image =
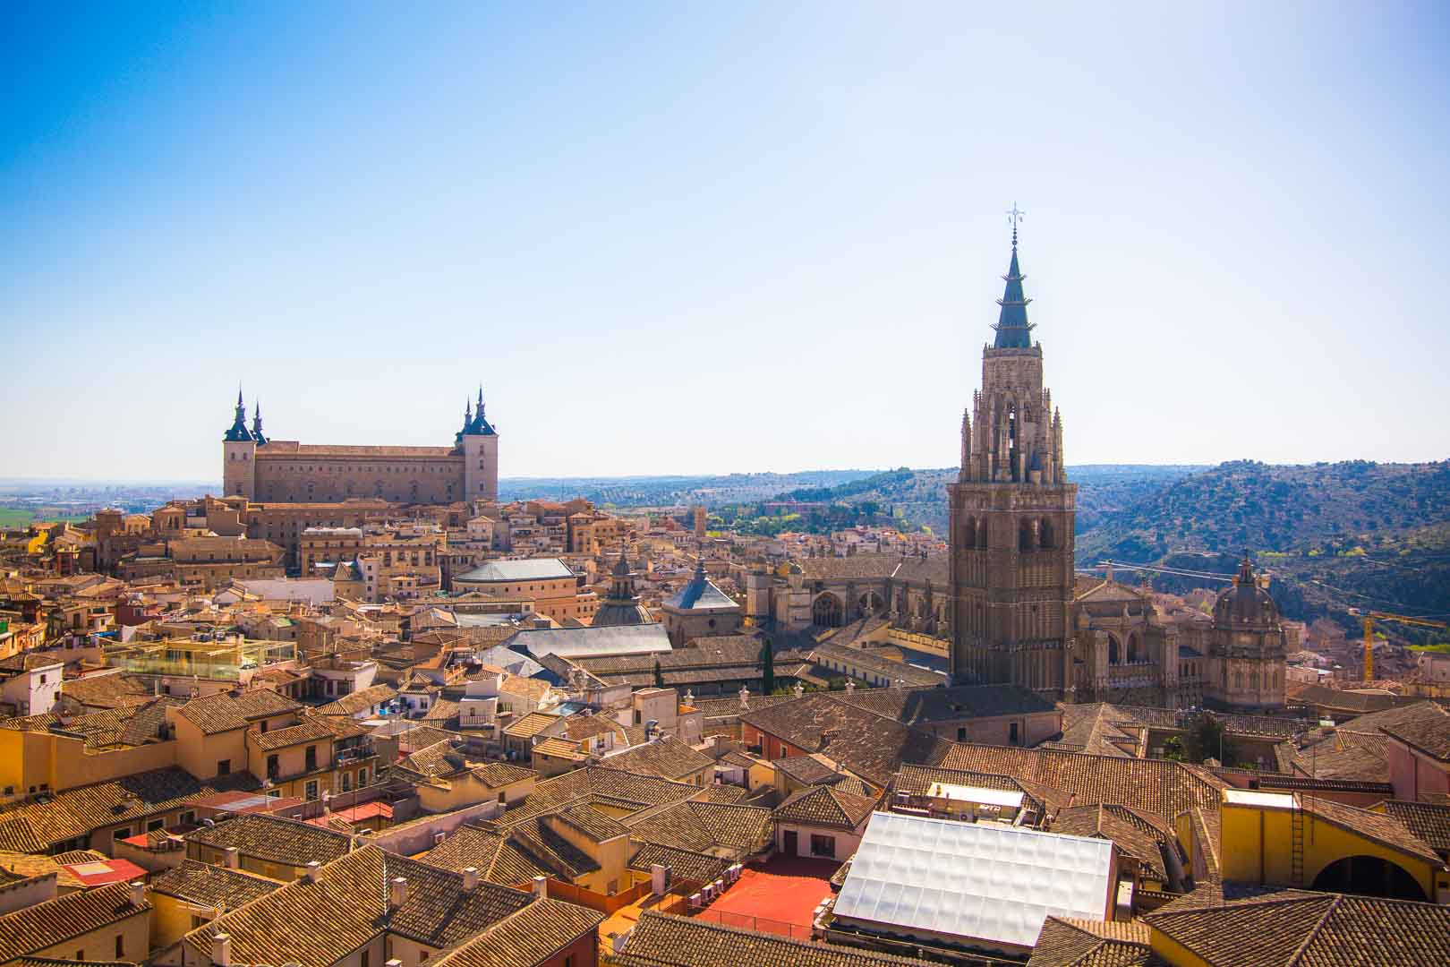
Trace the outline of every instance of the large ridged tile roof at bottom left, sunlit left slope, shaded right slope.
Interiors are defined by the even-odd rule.
[[[389,908],[389,884],[407,880],[407,899]],[[463,889],[463,877],[367,845],[322,867],[315,883],[289,883],[186,935],[186,960],[210,960],[212,935],[232,938],[236,963],[328,967],[383,932],[452,947],[534,900],[493,883]]]

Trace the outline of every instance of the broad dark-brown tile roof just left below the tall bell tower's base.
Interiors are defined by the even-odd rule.
[[[832,694],[808,694],[747,712],[741,722],[808,752],[825,752],[879,787],[884,787],[902,765],[940,765],[953,751],[950,742],[840,702]]]

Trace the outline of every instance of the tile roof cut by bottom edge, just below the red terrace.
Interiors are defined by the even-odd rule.
[[[848,560],[848,558],[842,558]],[[928,961],[837,944],[809,944],[645,910],[622,964],[629,967],[928,967]]]

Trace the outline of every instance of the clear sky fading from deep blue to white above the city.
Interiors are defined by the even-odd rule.
[[[419,13],[428,16],[420,16]],[[1018,202],[1069,464],[1450,457],[1450,16],[0,7],[0,476],[957,460]]]

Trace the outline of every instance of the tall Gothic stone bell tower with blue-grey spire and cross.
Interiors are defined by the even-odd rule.
[[[951,661],[960,683],[1064,693],[1073,681],[1073,520],[1063,420],[1043,389],[1043,344],[1027,320],[1016,225],[982,389],[961,415],[951,516]],[[1067,696],[1070,697],[1070,696]]]

